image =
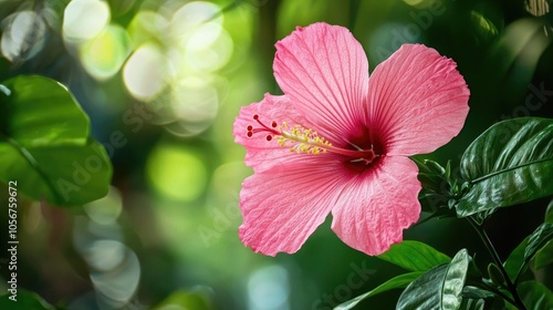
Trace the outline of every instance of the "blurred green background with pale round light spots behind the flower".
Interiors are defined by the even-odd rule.
[[[19,288],[69,309],[269,310],[331,309],[376,287],[401,270],[348,248],[331,217],[295,255],[264,257],[238,239],[240,185],[252,170],[232,123],[241,106],[281,93],[273,44],[296,25],[326,21],[354,33],[371,70],[407,42],[452,58],[471,90],[470,114],[458,137],[420,157],[456,167],[493,123],[553,116],[550,4],[1,0],[0,80],[40,74],[65,84],[114,167],[109,194],[82,208],[20,206]],[[502,258],[543,220],[550,199],[489,220]],[[434,219],[405,238],[489,261],[461,220]],[[546,270],[540,277],[551,288]],[[399,293],[359,309],[392,309]]]

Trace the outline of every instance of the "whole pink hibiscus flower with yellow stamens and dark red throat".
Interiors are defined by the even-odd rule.
[[[295,252],[332,213],[332,229],[367,255],[400,242],[419,218],[418,168],[461,130],[469,90],[456,63],[404,44],[371,79],[362,45],[337,25],[298,28],[279,41],[284,95],[240,110],[236,142],[254,174],[242,184],[242,242]]]

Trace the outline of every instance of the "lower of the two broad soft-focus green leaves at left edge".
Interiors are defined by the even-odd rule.
[[[56,206],[83,205],[104,197],[112,177],[104,147],[90,140],[85,145],[22,148],[0,143],[0,177],[17,182],[17,190]]]

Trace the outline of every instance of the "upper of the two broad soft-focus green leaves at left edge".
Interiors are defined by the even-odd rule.
[[[8,116],[0,135],[23,147],[86,144],[88,116],[65,86],[36,75],[19,75],[2,84],[10,94],[0,94],[1,114]]]

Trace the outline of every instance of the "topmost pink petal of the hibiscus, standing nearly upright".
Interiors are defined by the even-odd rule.
[[[314,23],[276,42],[274,76],[327,140],[343,141],[365,117],[368,62],[343,27]]]

